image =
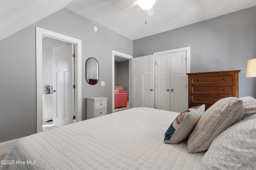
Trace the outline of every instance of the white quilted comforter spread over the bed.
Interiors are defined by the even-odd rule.
[[[189,154],[186,143],[164,144],[178,114],[132,108],[30,135],[8,152],[5,160],[14,164],[0,170],[200,169],[204,152]]]

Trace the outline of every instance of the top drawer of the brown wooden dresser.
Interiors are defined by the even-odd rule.
[[[214,76],[192,76],[192,84],[234,84],[234,74],[214,75]]]

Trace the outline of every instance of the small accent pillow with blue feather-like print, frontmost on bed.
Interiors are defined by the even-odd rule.
[[[186,139],[204,114],[205,105],[190,107],[180,113],[164,135],[164,143],[179,143]]]

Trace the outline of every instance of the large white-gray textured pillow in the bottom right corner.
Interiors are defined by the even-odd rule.
[[[256,116],[218,135],[201,162],[201,170],[253,170],[256,167]]]

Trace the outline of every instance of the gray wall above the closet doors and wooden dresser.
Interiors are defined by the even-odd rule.
[[[247,60],[256,58],[256,6],[134,40],[133,55],[191,47],[191,72],[241,70],[239,97],[256,98],[256,78],[246,78]]]

